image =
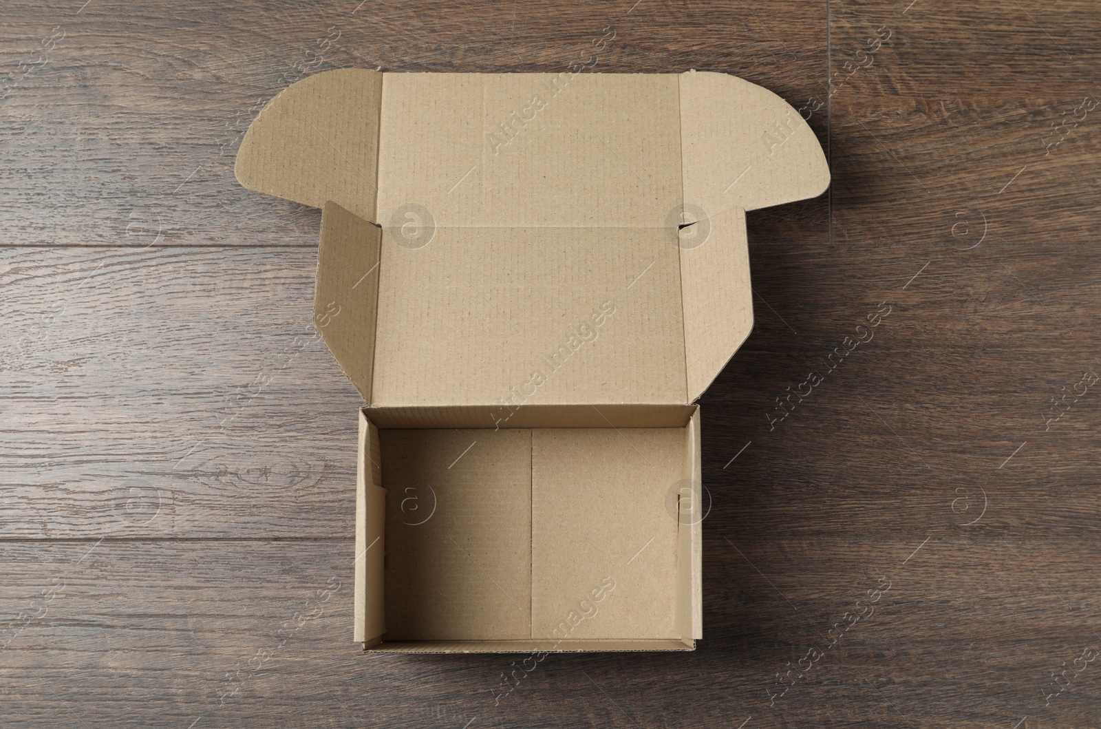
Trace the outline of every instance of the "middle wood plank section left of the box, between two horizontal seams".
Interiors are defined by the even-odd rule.
[[[3,536],[350,536],[316,253],[3,248]]]

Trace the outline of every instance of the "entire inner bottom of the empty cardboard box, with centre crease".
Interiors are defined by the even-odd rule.
[[[380,429],[384,639],[680,638],[685,434]]]

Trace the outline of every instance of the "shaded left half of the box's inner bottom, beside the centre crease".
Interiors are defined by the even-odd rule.
[[[381,431],[388,640],[531,636],[532,431]]]

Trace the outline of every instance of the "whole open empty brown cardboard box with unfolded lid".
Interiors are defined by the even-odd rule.
[[[349,68],[276,96],[237,176],[324,210],[355,640],[693,650],[694,403],[752,328],[745,210],[829,183],[799,115],[716,73]]]

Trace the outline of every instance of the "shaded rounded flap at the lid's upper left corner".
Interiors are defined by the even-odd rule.
[[[249,127],[237,179],[313,207],[335,200],[373,221],[381,108],[377,70],[341,68],[292,84]]]

